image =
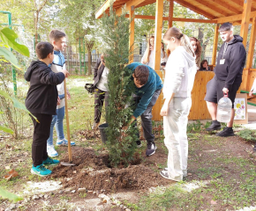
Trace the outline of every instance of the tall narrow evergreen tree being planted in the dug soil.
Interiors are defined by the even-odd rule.
[[[136,141],[135,127],[122,130],[132,117],[132,107],[126,105],[131,105],[134,83],[131,80],[132,73],[127,74],[128,70],[124,69],[129,58],[129,25],[129,19],[124,14],[118,17],[112,7],[109,17],[105,15],[102,18],[102,38],[105,40],[107,55],[105,60],[110,69],[107,147],[113,165],[128,164],[132,160]]]

